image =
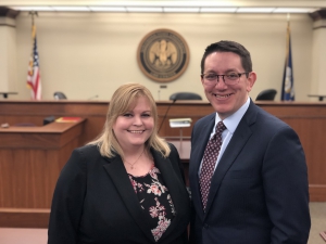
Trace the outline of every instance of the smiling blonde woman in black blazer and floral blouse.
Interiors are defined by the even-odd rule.
[[[179,155],[158,136],[152,94],[123,85],[102,133],[61,171],[48,244],[187,243],[189,205]]]

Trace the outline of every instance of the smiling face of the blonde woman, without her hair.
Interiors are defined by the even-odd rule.
[[[154,118],[147,98],[140,97],[113,125],[114,134],[124,151],[142,146],[154,129]]]

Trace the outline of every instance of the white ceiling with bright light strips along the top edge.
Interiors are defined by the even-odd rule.
[[[1,0],[17,11],[49,12],[150,12],[150,13],[312,13],[326,8],[326,0]]]

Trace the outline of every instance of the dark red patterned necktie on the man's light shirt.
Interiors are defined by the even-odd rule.
[[[223,121],[218,121],[215,134],[209,141],[204,155],[201,171],[199,176],[199,185],[203,209],[206,207],[211,179],[214,174],[215,164],[222,145],[222,132],[226,129]]]

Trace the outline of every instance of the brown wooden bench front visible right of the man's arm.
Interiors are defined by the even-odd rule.
[[[302,143],[308,165],[310,201],[326,202],[325,104],[272,105],[263,108],[291,126]]]

